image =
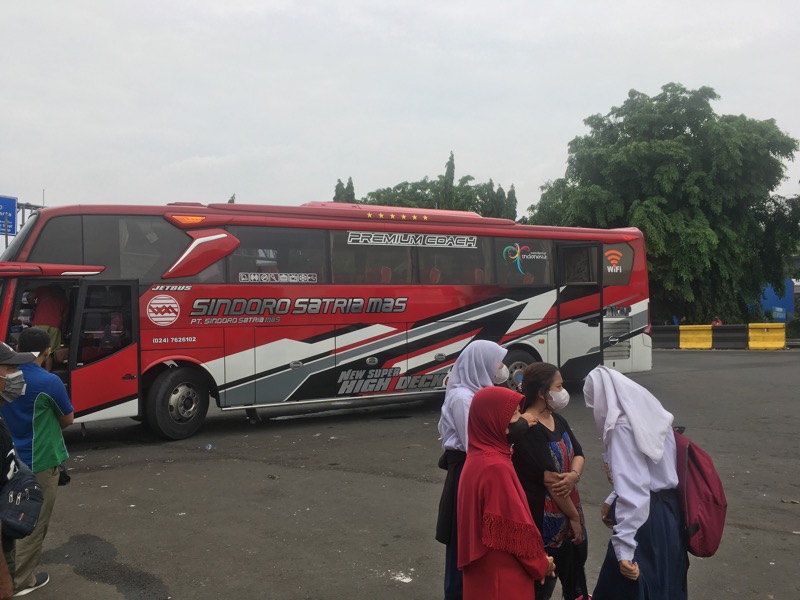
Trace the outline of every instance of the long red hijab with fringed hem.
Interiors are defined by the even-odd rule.
[[[472,398],[467,462],[458,484],[458,566],[480,559],[489,549],[536,564],[544,577],[547,558],[531,518],[525,492],[511,464],[506,439],[514,411],[523,400],[508,388],[489,387]]]

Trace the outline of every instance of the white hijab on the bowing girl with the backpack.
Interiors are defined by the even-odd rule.
[[[583,397],[586,406],[594,410],[597,433],[603,443],[620,418],[627,417],[639,450],[655,463],[661,460],[673,416],[653,394],[622,373],[601,366],[586,377]]]

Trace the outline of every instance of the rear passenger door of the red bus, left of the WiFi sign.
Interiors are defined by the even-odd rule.
[[[555,243],[556,335],[548,336],[548,354],[565,381],[582,381],[603,364],[602,249],[599,242]]]

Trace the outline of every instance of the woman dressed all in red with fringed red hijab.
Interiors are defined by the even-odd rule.
[[[553,572],[511,464],[508,426],[523,396],[480,390],[469,409],[467,461],[458,485],[458,566],[464,600],[531,600]]]

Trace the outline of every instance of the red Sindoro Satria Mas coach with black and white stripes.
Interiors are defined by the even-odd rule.
[[[364,204],[64,206],[32,214],[0,256],[0,327],[68,298],[76,422],[193,435],[225,410],[303,414],[441,397],[472,340],[566,380],[651,368],[647,266],[634,228],[528,226]]]

